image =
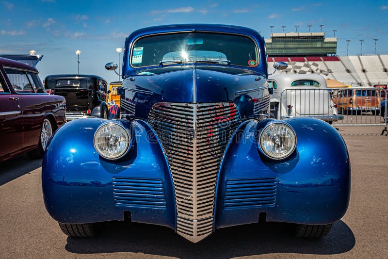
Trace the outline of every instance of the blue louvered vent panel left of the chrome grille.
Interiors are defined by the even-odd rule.
[[[166,207],[161,179],[114,177],[113,196],[116,206],[120,207]]]

